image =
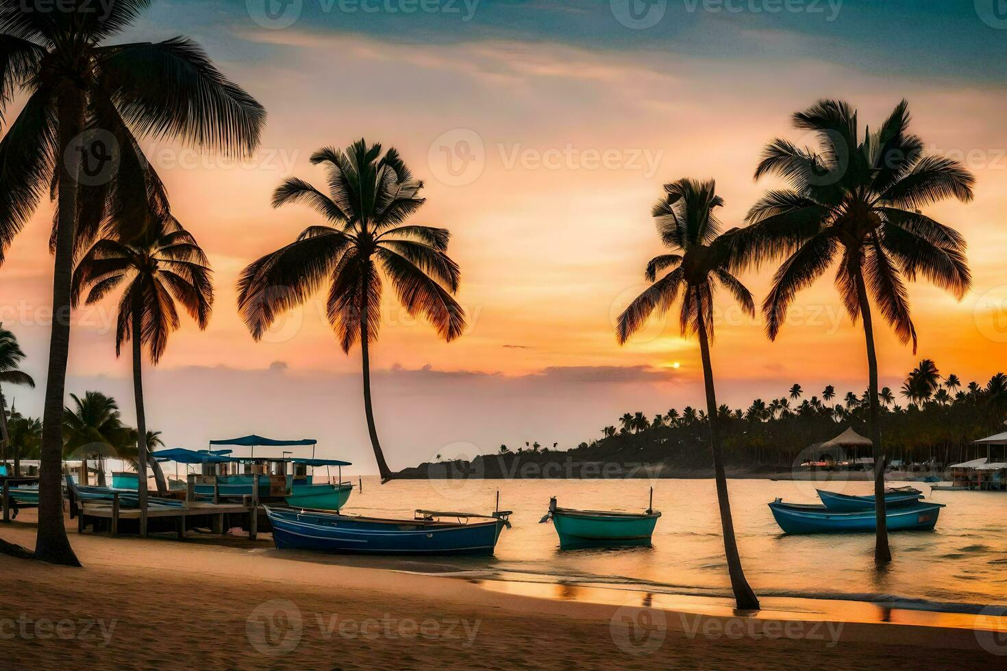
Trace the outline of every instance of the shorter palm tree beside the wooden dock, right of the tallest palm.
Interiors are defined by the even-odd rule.
[[[147,534],[147,418],[143,404],[143,347],[157,365],[168,345],[168,336],[179,327],[175,303],[205,329],[213,304],[209,262],[195,238],[170,214],[132,239],[109,231],[95,242],[74,271],[70,302],[76,307],[84,292],[93,305],[125,283],[116,323],[116,356],[132,342],[133,393],[136,401],[137,474],[139,475],[140,535]],[[155,473],[160,468],[154,467]],[[157,479],[158,493],[167,491],[164,475]]]

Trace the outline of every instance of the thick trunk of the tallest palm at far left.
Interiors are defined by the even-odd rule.
[[[80,566],[81,562],[66,538],[63,526],[62,461],[63,394],[66,387],[66,360],[69,350],[69,290],[74,272],[74,226],[81,172],[81,152],[70,144],[84,129],[84,95],[67,85],[60,92],[59,213],[56,220],[55,264],[52,277],[52,333],[49,337],[49,364],[45,377],[45,405],[42,411],[42,445],[38,480],[38,533],[35,558],[51,563]],[[67,151],[68,150],[68,151]]]

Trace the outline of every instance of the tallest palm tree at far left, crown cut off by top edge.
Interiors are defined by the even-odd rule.
[[[34,550],[56,563],[80,563],[62,524],[59,468],[74,256],[109,213],[132,213],[122,220],[139,229],[150,202],[166,202],[138,138],[250,153],[266,119],[184,37],[106,43],[149,4],[119,0],[96,11],[91,0],[66,0],[53,10],[47,0],[0,0],[0,115],[13,92],[25,100],[0,141],[0,259],[43,191],[51,188],[57,212]]]

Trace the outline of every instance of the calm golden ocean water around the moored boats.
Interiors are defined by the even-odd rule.
[[[569,508],[640,510],[654,486],[663,512],[654,546],[617,550],[559,550],[552,524],[539,524],[550,496]],[[1007,494],[932,492],[948,504],[937,529],[891,534],[894,562],[877,571],[872,535],[784,536],[766,503],[775,497],[817,503],[815,488],[869,494],[871,483],[731,480],[735,530],[749,581],[764,597],[844,599],[895,604],[1007,606]],[[345,512],[411,517],[415,508],[489,512],[513,510],[494,557],[384,559],[354,557],[359,565],[422,571],[475,571],[494,578],[610,584],[649,592],[729,596],[720,521],[712,480],[486,480],[393,481],[364,479]],[[344,559],[340,559],[344,561]]]

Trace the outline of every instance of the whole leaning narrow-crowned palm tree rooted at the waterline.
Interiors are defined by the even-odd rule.
[[[744,260],[735,243],[736,229],[720,234],[721,224],[714,210],[723,205],[723,199],[716,194],[715,186],[713,180],[693,179],[680,179],[665,185],[668,195],[658,201],[653,214],[670,254],[656,257],[648,264],[644,275],[653,284],[619,315],[617,339],[620,344],[625,343],[652,314],[656,311],[663,314],[671,309],[681,294],[679,327],[683,336],[689,333],[699,336],[703,358],[710,449],[731,588],[739,609],[754,610],[758,609],[758,599],[741,567],[727,477],[717,440],[720,422],[710,362],[710,340],[713,338],[713,292],[718,285],[730,292],[746,313],[754,316],[755,306],[751,294],[732,274]],[[658,274],[666,270],[669,272],[659,280]]]

